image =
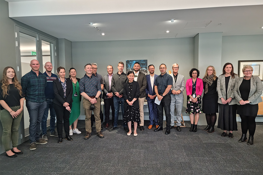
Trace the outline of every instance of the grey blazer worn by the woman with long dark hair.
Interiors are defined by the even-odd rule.
[[[223,104],[220,98],[224,98],[227,100],[228,98],[233,98],[229,105],[235,105],[237,103],[235,99],[234,89],[235,89],[235,82],[238,79],[238,75],[235,75],[235,78],[230,77],[227,87],[227,96],[226,96],[226,79],[225,74],[219,75],[217,80],[217,92],[218,92],[218,103]]]

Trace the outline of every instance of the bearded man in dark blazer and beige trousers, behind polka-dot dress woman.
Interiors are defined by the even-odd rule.
[[[144,105],[144,97],[146,97],[146,86],[147,86],[147,81],[146,81],[146,76],[144,73],[140,72],[140,63],[136,62],[134,63],[133,69],[134,69],[134,81],[137,81],[140,86],[140,95],[139,95],[139,106],[140,106],[140,130],[144,130],[144,112],[143,112],[143,105]]]

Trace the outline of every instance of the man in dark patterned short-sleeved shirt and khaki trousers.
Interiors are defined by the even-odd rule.
[[[100,80],[92,75],[92,66],[87,64],[84,67],[86,74],[83,78],[80,79],[80,94],[84,97],[83,99],[83,108],[85,112],[85,127],[86,127],[86,136],[85,140],[89,139],[91,135],[91,106],[94,106],[93,113],[95,117],[95,126],[97,135],[100,138],[104,138],[101,132],[101,119],[100,119],[100,94],[101,94],[101,82]]]

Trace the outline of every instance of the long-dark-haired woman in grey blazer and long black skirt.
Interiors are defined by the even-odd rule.
[[[237,131],[236,123],[236,99],[234,95],[235,82],[238,75],[234,73],[231,63],[223,66],[223,74],[219,75],[217,81],[219,115],[217,127],[224,130],[221,134],[225,137],[229,131],[228,137],[233,138],[233,131]]]

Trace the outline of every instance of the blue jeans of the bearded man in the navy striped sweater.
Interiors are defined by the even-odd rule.
[[[48,110],[50,110],[50,133],[55,131],[55,122],[56,122],[56,112],[54,110],[54,104],[52,98],[47,98],[47,108],[45,109],[42,121],[41,121],[41,129],[42,135],[47,134],[47,118],[48,118]]]

